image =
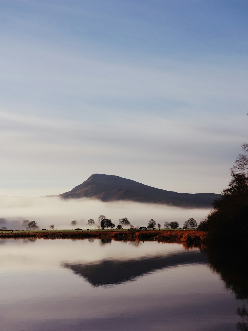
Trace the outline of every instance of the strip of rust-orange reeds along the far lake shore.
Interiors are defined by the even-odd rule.
[[[86,238],[111,238],[113,240],[155,240],[169,243],[204,244],[207,233],[195,230],[158,230],[158,231],[28,231],[28,232],[3,232],[0,238],[44,238],[44,239],[86,239]]]

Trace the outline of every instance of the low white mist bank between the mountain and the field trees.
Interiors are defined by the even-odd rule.
[[[74,229],[75,227],[90,228],[87,221],[90,218],[98,222],[98,216],[104,214],[116,225],[118,219],[127,217],[132,225],[147,226],[153,218],[162,226],[165,221],[178,221],[180,227],[189,217],[201,221],[209,209],[183,209],[168,207],[159,204],[142,204],[133,202],[108,202],[104,203],[94,199],[63,200],[59,197],[0,197],[0,218],[7,219],[7,228],[22,229],[22,221],[36,221],[40,228],[48,229],[50,224],[55,229]],[[71,226],[71,221],[77,220],[76,226]],[[91,226],[91,228],[95,228]],[[0,227],[3,226],[0,224]]]

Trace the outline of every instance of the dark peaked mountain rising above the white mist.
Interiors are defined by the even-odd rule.
[[[60,194],[64,199],[87,197],[105,202],[124,200],[186,208],[212,207],[214,199],[220,196],[215,193],[191,194],[165,191],[131,179],[99,173],[91,175],[71,191]]]

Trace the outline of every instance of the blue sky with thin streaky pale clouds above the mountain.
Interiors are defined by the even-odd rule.
[[[1,0],[0,195],[93,173],[220,193],[247,142],[247,1]]]

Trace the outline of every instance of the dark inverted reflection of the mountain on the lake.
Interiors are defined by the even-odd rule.
[[[207,255],[199,251],[182,251],[171,255],[149,256],[133,260],[106,259],[92,263],[62,263],[93,286],[119,284],[147,273],[182,264],[206,264]]]

